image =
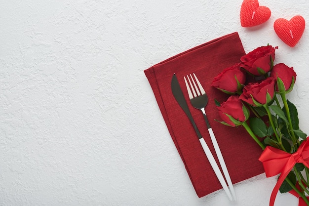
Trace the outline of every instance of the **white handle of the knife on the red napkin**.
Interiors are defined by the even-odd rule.
[[[210,151],[208,145],[206,144],[204,138],[200,138],[199,142],[202,145],[203,150],[204,150],[204,152],[205,152],[205,154],[206,154],[206,156],[208,158],[208,161],[209,161],[210,165],[212,166],[213,170],[215,171],[215,173],[216,173],[216,175],[217,175],[217,177],[219,179],[219,182],[221,183],[224,191],[227,193],[230,201],[232,201],[232,195],[231,195],[230,190],[229,190],[229,188],[227,186],[227,183],[225,182],[224,177],[223,177],[223,175],[222,175],[222,173],[221,173],[221,171],[219,169],[219,166],[217,165],[217,163],[216,163],[216,161],[214,159],[214,156],[211,154],[211,151]]]

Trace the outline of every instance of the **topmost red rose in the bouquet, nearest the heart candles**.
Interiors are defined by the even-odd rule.
[[[274,51],[278,47],[261,46],[242,56],[240,61],[243,69],[255,76],[261,76],[271,70],[271,59],[274,60]]]

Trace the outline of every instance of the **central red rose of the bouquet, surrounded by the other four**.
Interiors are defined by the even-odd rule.
[[[268,104],[274,96],[274,83],[275,79],[272,77],[269,77],[262,82],[249,83],[243,87],[243,92],[239,99],[252,106],[260,106],[256,105],[252,98],[261,105]],[[270,98],[268,98],[267,93],[269,93]]]

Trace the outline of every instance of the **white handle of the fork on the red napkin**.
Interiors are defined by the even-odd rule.
[[[218,157],[218,159],[219,159],[219,163],[220,163],[220,165],[221,165],[223,174],[224,174],[224,176],[225,176],[225,178],[226,178],[226,180],[227,180],[227,182],[228,182],[228,185],[229,185],[229,187],[230,187],[230,189],[231,189],[232,196],[233,196],[234,200],[236,200],[236,194],[235,194],[235,191],[234,191],[234,188],[233,188],[232,180],[231,180],[231,177],[230,177],[230,174],[229,174],[227,165],[226,165],[225,162],[224,162],[224,159],[223,159],[222,153],[221,153],[221,151],[220,151],[218,142],[217,142],[217,140],[216,140],[215,134],[214,134],[214,132],[212,131],[212,128],[208,128],[208,132],[209,132],[209,134],[210,134],[210,138],[211,138],[212,144],[214,145],[214,148],[215,148],[217,157]]]

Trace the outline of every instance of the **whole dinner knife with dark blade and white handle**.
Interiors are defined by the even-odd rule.
[[[173,75],[172,77],[172,82],[171,82],[171,89],[172,89],[172,93],[173,93],[173,96],[175,97],[176,101],[178,102],[178,104],[180,105],[180,107],[183,109],[183,111],[186,113],[187,117],[189,118],[191,124],[193,125],[193,128],[198,136],[198,139],[199,139],[199,142],[204,150],[204,153],[206,154],[206,157],[210,163],[210,165],[212,166],[213,170],[215,171],[215,174],[219,180],[219,182],[221,183],[224,191],[226,192],[226,194],[228,195],[229,199],[232,201],[232,195],[230,193],[230,190],[228,188],[228,185],[220,171],[220,168],[217,164],[217,162],[215,161],[214,159],[214,156],[212,155],[208,145],[206,144],[203,136],[201,135],[201,133],[199,132],[194,120],[193,120],[193,117],[192,117],[192,114],[189,110],[189,107],[188,107],[188,104],[186,102],[186,99],[185,99],[185,96],[181,90],[181,87],[180,87],[180,84],[177,80],[177,77],[176,77],[176,74]]]

